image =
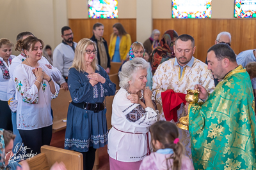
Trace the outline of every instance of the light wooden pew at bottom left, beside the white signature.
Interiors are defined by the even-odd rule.
[[[55,162],[63,162],[69,170],[83,170],[83,154],[44,145],[41,153],[26,160],[31,170],[49,170]]]

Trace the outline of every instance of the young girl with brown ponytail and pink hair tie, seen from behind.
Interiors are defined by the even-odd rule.
[[[140,170],[146,169],[194,169],[189,157],[183,154],[184,146],[179,140],[179,131],[175,124],[159,121],[150,127],[151,142],[156,152],[145,157]]]

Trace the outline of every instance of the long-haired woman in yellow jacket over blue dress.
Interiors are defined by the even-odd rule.
[[[120,23],[114,24],[108,50],[111,61],[124,62],[131,44],[131,36],[127,34],[123,25]]]

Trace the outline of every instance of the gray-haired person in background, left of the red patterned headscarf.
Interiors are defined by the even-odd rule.
[[[158,29],[154,29],[152,31],[152,34],[151,34],[150,38],[148,38],[143,43],[143,46],[144,46],[145,50],[148,51],[149,55],[151,55],[151,53],[154,50],[154,48],[156,46],[158,46],[159,38],[160,38],[160,31]]]

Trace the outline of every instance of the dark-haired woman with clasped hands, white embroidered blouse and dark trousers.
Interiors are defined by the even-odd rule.
[[[60,87],[52,80],[49,68],[38,62],[44,47],[41,39],[29,36],[17,41],[16,46],[28,56],[13,73],[18,101],[17,129],[24,146],[31,149],[26,151],[40,153],[42,145],[51,143],[51,99],[58,96]]]

